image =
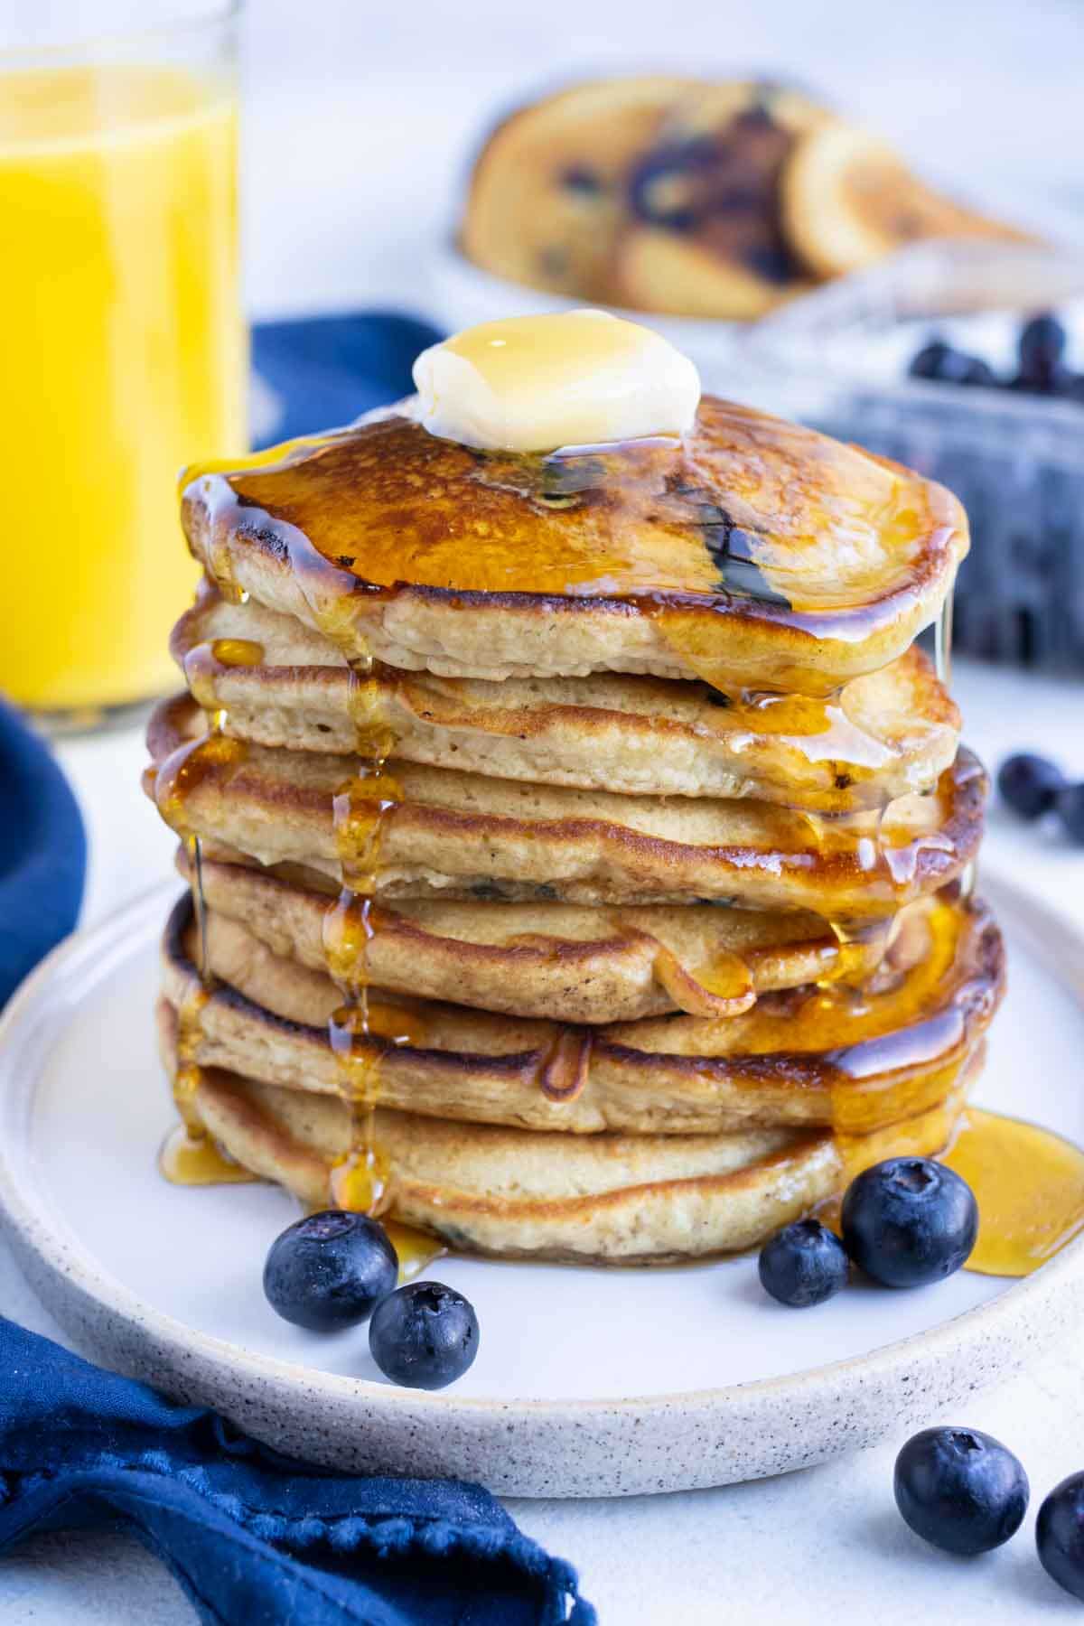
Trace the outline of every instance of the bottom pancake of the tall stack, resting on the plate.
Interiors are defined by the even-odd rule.
[[[161,1021],[166,1067],[174,1034]],[[863,1167],[928,1156],[952,1138],[978,1057],[944,1102],[874,1135],[743,1130],[733,1135],[536,1135],[377,1111],[390,1153],[390,1215],[458,1252],[569,1263],[678,1263],[756,1247]],[[304,1203],[327,1202],[348,1145],[341,1102],[219,1068],[197,1106],[218,1145]]]

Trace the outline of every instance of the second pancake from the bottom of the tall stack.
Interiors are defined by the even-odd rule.
[[[918,1021],[881,1039],[858,1039],[848,1049],[826,1052],[660,1054],[629,1042],[635,1024],[619,1024],[621,1039],[614,1042],[605,1028],[583,1031],[559,1023],[517,1023],[431,1002],[431,1021],[447,1011],[450,1020],[466,1018],[468,1026],[471,1021],[489,1024],[496,1037],[509,1023],[518,1034],[520,1049],[440,1050],[424,1042],[384,1047],[384,1099],[390,1109],[439,1119],[570,1133],[718,1133],[749,1125],[808,1127],[835,1119],[845,1120],[848,1128],[874,1130],[891,1122],[892,1114],[910,1115],[946,1094],[946,1075],[959,1072],[1001,998],[1001,935],[985,904],[962,907],[969,930],[957,950],[964,963],[957,964],[952,985],[939,1005],[920,1013]],[[198,977],[185,946],[192,920],[192,899],[185,894],[174,906],[163,941],[164,987],[174,1005]],[[380,990],[372,997],[380,1002]],[[400,1003],[411,1010],[411,1002]],[[413,1002],[413,1006],[424,1024],[426,1002]],[[270,1075],[268,1083],[288,1083],[317,1094],[338,1089],[327,1026],[268,1011],[226,982],[211,990],[202,1026],[197,1060],[205,1065],[237,1070],[237,1044],[247,1041],[263,1057],[260,1065]],[[710,1033],[712,1024],[707,1028]],[[566,1034],[583,1042],[587,1052],[582,1088],[570,1099],[557,1101],[543,1093],[543,1080]],[[876,1067],[878,1057],[869,1054],[869,1046],[876,1044],[886,1050],[884,1067]],[[250,1059],[244,1070],[254,1072]],[[899,1088],[897,1096],[891,1094],[892,1083]]]

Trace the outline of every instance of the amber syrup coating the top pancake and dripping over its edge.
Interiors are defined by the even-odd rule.
[[[314,623],[346,655],[358,654],[364,595],[395,597],[405,584],[598,597],[650,616],[683,665],[720,691],[735,665],[722,618],[853,639],[918,590],[917,558],[943,567],[964,537],[956,499],[918,475],[713,397],[684,441],[553,454],[442,441],[405,406],[195,465],[182,488],[211,574],[231,580],[223,556],[234,535],[273,537]],[[785,688],[834,693],[817,665],[788,659]]]

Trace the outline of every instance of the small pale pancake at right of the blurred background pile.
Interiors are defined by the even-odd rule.
[[[1027,242],[917,179],[891,146],[853,125],[804,133],[782,177],[788,239],[821,276],[845,276],[926,237]]]

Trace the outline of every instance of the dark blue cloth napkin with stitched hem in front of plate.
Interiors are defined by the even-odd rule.
[[[0,1553],[127,1530],[213,1626],[593,1626],[478,1486],[306,1467],[2,1317],[0,1372]]]

